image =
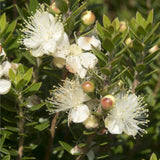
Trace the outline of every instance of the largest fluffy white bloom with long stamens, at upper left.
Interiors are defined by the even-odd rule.
[[[57,17],[44,11],[43,5],[34,16],[30,17],[29,21],[25,22],[22,32],[24,33],[22,43],[34,57],[40,57],[44,54],[55,56],[57,46],[63,41],[68,41],[63,24]]]

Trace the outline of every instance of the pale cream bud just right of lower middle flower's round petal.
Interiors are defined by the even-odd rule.
[[[91,116],[89,116],[89,118],[87,120],[85,120],[83,122],[83,124],[85,125],[85,127],[87,129],[96,128],[96,127],[98,127],[98,120],[97,120],[96,116],[91,115]]]

